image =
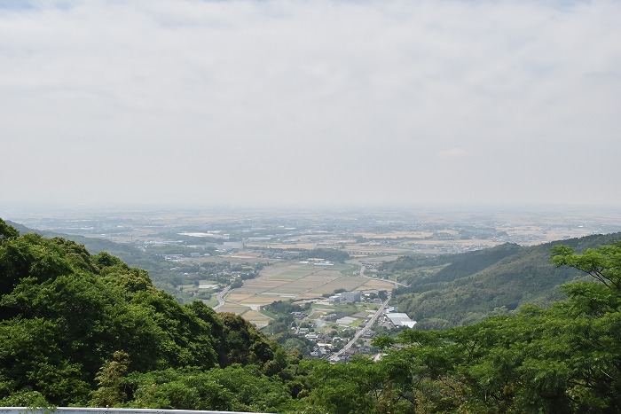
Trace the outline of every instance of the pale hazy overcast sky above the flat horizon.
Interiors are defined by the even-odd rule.
[[[0,205],[621,206],[621,1],[0,0]]]

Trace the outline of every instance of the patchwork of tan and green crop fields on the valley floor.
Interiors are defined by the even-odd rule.
[[[303,262],[277,263],[263,269],[258,277],[245,280],[243,286],[232,289],[224,298],[226,303],[218,310],[236,313],[258,327],[263,327],[269,323],[270,318],[263,316],[259,310],[274,301],[321,298],[336,289],[391,290],[393,287],[379,279],[343,276],[342,270],[351,268],[350,264],[342,263],[332,266]]]

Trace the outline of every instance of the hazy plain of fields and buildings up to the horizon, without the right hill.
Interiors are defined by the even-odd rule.
[[[91,250],[116,249],[179,301],[243,316],[285,348],[332,362],[373,354],[378,333],[415,327],[389,305],[400,284],[381,274],[382,263],[621,231],[619,211],[554,208],[73,211],[11,220],[80,238]]]

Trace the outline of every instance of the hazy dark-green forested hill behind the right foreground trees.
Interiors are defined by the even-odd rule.
[[[553,247],[562,243],[584,251],[620,239],[621,233],[615,233],[531,247],[505,244],[466,254],[410,256],[385,263],[381,271],[409,285],[398,288],[395,298],[419,329],[446,328],[562,299],[558,286],[583,275],[555,268],[550,263]]]

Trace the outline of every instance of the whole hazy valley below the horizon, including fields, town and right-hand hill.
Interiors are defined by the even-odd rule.
[[[326,357],[341,352],[390,293],[393,312],[405,312],[417,329],[469,324],[524,303],[559,299],[554,286],[565,274],[547,283],[519,282],[524,272],[525,280],[538,280],[541,271],[556,274],[545,244],[621,230],[616,210],[551,207],[66,211],[12,219],[48,235],[67,235],[93,253],[116,254],[147,269],[153,283],[178,301],[199,300],[240,315],[264,332],[281,334],[283,343],[299,347],[302,341],[307,354]],[[495,253],[503,245],[514,247]],[[496,264],[511,254],[541,270]],[[485,279],[486,272],[493,279]],[[502,282],[508,277],[502,275],[514,281]],[[360,293],[360,299],[335,301],[343,292]],[[293,317],[274,313],[268,306],[274,302],[301,311]],[[385,313],[356,351],[373,352],[375,332],[396,329]]]

